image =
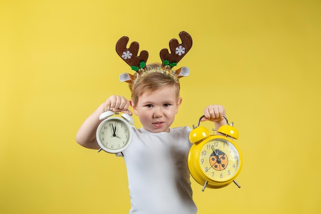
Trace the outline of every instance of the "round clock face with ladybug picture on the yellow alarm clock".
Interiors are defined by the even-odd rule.
[[[227,181],[238,171],[240,157],[237,148],[224,139],[213,139],[202,147],[199,163],[209,179]]]

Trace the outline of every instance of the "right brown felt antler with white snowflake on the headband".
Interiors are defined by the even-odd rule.
[[[191,49],[193,42],[190,34],[182,31],[179,33],[179,37],[182,40],[182,44],[179,44],[176,38],[169,42],[171,53],[169,53],[167,48],[160,50],[159,55],[163,65],[169,65],[171,68],[174,67]]]

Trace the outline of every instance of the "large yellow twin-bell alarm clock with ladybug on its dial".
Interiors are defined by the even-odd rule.
[[[205,127],[193,125],[189,140],[193,143],[188,153],[188,168],[193,179],[206,187],[222,188],[235,181],[242,169],[243,158],[238,146],[232,139],[238,139],[238,131],[233,122],[219,127],[218,133],[223,135],[210,135]],[[215,129],[213,129],[215,130]]]

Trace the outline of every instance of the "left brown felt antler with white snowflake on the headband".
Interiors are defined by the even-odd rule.
[[[132,68],[132,70],[138,71],[141,68],[145,68],[148,59],[148,52],[146,50],[142,50],[138,56],[139,44],[137,42],[132,42],[129,48],[127,48],[128,41],[129,37],[127,36],[119,38],[116,43],[116,52]]]

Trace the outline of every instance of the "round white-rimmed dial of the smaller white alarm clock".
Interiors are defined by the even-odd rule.
[[[96,139],[103,150],[109,153],[121,152],[130,143],[130,126],[121,118],[105,119],[97,128]]]

